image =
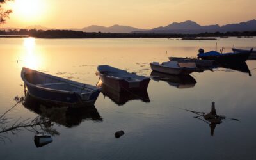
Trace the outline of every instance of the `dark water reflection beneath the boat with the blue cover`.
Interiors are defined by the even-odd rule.
[[[246,62],[240,62],[240,63],[219,63],[218,67],[228,68],[228,69],[231,69],[231,70],[236,70],[236,71],[239,71],[239,72],[248,73],[249,76],[252,76]]]

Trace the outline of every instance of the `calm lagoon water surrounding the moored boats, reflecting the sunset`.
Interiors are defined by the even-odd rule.
[[[256,47],[256,38],[220,38],[218,50],[230,52],[233,45]],[[200,47],[215,50],[216,41],[0,38],[0,117],[16,104],[15,96],[24,96],[24,66],[95,85],[97,65],[156,76],[150,62],[195,57]],[[19,103],[4,115],[5,123],[0,120],[1,159],[256,159],[256,61],[246,64],[252,76],[216,68],[185,80],[155,77],[143,95],[100,93],[95,108],[82,111]],[[218,115],[227,117],[215,128],[184,110],[209,112],[212,102]],[[38,126],[1,133],[36,117],[58,132],[52,143],[36,147]],[[125,134],[116,139],[120,130]]]

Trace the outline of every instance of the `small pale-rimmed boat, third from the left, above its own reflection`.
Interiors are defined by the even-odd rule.
[[[177,61],[167,61],[161,64],[159,62],[152,62],[150,63],[150,66],[154,71],[175,75],[190,74],[197,69],[194,62],[178,63]]]

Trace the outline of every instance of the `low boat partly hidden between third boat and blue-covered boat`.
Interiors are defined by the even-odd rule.
[[[214,65],[213,60],[200,60],[196,58],[182,58],[182,57],[168,57],[170,61],[177,61],[179,63],[196,63],[196,67],[198,68],[209,68]]]

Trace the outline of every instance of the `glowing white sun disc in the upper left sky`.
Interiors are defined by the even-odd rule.
[[[13,13],[24,22],[42,19],[44,12],[43,0],[16,0],[13,2]]]

